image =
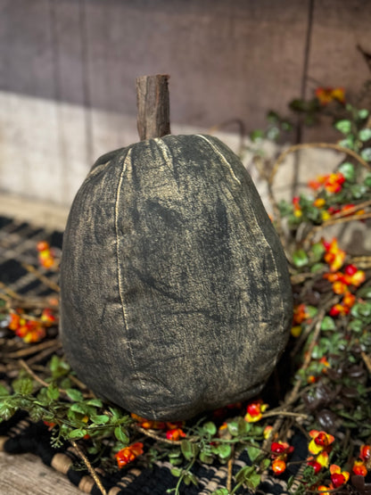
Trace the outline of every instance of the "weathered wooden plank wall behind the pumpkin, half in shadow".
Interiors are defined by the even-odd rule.
[[[0,0],[0,191],[69,205],[137,140],[140,75],[170,74],[174,133],[257,128],[318,85],[354,97],[370,23],[369,0]]]

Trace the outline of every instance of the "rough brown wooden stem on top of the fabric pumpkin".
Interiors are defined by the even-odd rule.
[[[168,80],[168,74],[136,78],[136,126],[141,141],[170,134]]]

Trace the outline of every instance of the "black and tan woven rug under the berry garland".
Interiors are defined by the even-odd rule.
[[[27,268],[37,266],[36,244],[41,240],[49,242],[57,249],[62,248],[61,232],[48,231],[28,223],[0,217],[0,291],[6,286],[8,290],[27,296],[46,296],[52,292],[51,286],[58,283],[57,273],[43,271],[43,268],[34,273]],[[81,462],[73,447],[66,442],[58,449],[53,448],[50,434],[43,422],[34,423],[27,413],[19,411],[9,421],[0,424],[0,450],[11,454],[32,452],[39,456],[45,465],[52,466],[65,474],[81,491],[99,495],[101,491],[87,470],[81,469]],[[307,442],[302,440],[300,434],[293,436],[291,443],[295,450],[291,461],[306,457]],[[80,442],[80,448],[84,450],[84,441]],[[233,473],[237,473],[248,464],[249,458],[243,451],[235,459]],[[299,463],[296,465],[293,463],[280,478],[267,475],[260,484],[259,492],[267,495],[287,493],[286,482],[290,476],[297,473],[298,466]],[[97,474],[109,495],[165,494],[177,484],[177,478],[170,473],[172,467],[169,462],[157,461],[149,468],[141,466],[138,461],[112,474],[104,472],[102,467],[95,465]],[[185,486],[181,489],[181,493],[209,495],[219,488],[226,487],[226,465],[215,463],[208,466],[199,463],[194,466],[193,472],[199,480],[198,485]],[[240,490],[238,493],[249,493],[249,491]]]

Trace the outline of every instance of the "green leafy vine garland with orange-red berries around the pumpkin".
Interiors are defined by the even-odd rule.
[[[327,99],[329,95],[328,89]],[[44,421],[52,444],[70,442],[103,494],[94,466],[125,469],[133,462],[152,466],[161,459],[169,460],[177,479],[169,493],[177,495],[183,485],[198,485],[194,467],[199,463],[227,470],[226,486],[214,495],[257,491],[266,474],[287,473],[293,464],[293,433],[298,432],[308,443],[309,456],[300,461],[298,474],[288,479],[291,493],[347,487],[359,492],[354,476],[368,481],[371,472],[371,257],[345,252],[337,239],[326,239],[326,227],[349,226],[371,217],[371,131],[368,111],[345,104],[341,92],[335,95],[334,128],[341,141],[323,146],[345,150],[347,158],[336,170],[314,177],[308,192],[292,202],[276,203],[273,180],[287,153],[304,145],[273,158],[262,146],[267,138],[276,141],[291,132],[291,120],[270,112],[268,128],[253,131],[249,144],[253,161],[263,166],[273,222],[290,262],[293,330],[276,370],[276,380],[288,387],[277,391],[272,382],[249,403],[185,423],[130,415],[78,382],[54,335],[57,318],[43,311],[46,301],[24,300],[3,286],[0,322],[8,330],[0,339],[2,420],[25,410],[33,420]],[[295,100],[291,109],[312,123],[324,106],[317,96],[309,103]],[[43,332],[35,334],[43,325]],[[31,331],[33,338],[46,334],[45,341],[24,342]],[[242,454],[248,462],[234,470],[235,459]]]

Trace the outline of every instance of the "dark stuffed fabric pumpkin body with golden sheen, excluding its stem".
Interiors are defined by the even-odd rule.
[[[104,155],[70,210],[62,343],[92,390],[185,419],[260,392],[284,349],[292,293],[251,177],[211,136]]]

